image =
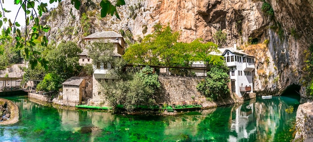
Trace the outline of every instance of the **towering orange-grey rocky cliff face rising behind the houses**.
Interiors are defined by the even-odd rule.
[[[76,10],[69,0],[42,17],[51,26],[49,40],[74,40],[94,31],[114,30],[127,41],[140,40],[153,25],[169,24],[180,41],[213,41],[217,30],[227,33],[225,47],[239,45],[256,57],[256,91],[279,94],[291,84],[302,86],[303,51],[313,43],[312,0],[266,0],[274,11],[266,15],[263,0],[125,0],[120,20],[100,18],[98,1],[82,0]],[[250,43],[258,43],[250,45]],[[302,87],[301,94],[304,94]]]

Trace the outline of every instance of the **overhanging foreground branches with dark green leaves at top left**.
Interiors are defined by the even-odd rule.
[[[61,0],[49,0],[49,3],[51,4],[57,1],[60,2]],[[70,0],[71,4],[73,4],[76,9],[79,9],[81,1],[83,0]],[[29,60],[32,69],[34,69],[38,63],[47,69],[48,62],[40,55],[40,52],[33,48],[37,44],[35,42],[36,40],[39,40],[42,46],[47,46],[48,44],[48,40],[42,32],[47,32],[50,27],[41,25],[39,18],[44,12],[48,12],[47,3],[41,2],[40,0],[13,0],[15,5],[19,5],[19,9],[23,9],[23,15],[25,15],[26,28],[24,28],[25,31],[22,34],[20,24],[15,21],[16,18],[11,20],[5,16],[5,13],[9,13],[10,10],[8,10],[9,7],[2,6],[3,2],[4,0],[0,1],[2,9],[2,12],[0,12],[0,27],[2,27],[3,23],[8,23],[8,26],[4,28],[5,35],[15,34],[16,49],[24,49],[26,59],[28,59],[29,56],[33,56],[33,58]],[[35,3],[37,3],[37,7],[35,7]],[[124,0],[116,0],[115,5],[112,5],[108,0],[101,0],[99,3],[101,6],[101,17],[110,14],[115,15],[119,19],[116,6],[118,7],[124,4]],[[36,12],[35,8],[38,12]],[[21,11],[19,9],[16,14],[19,14]],[[0,48],[0,53],[1,51],[2,49]]]

